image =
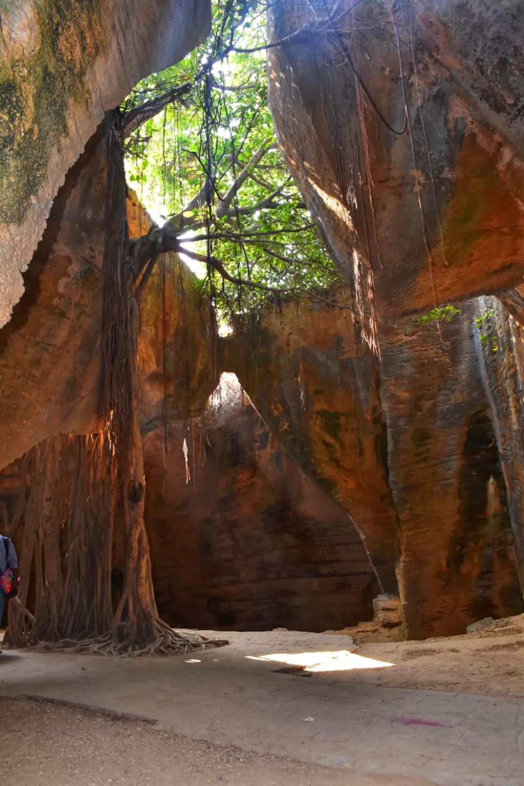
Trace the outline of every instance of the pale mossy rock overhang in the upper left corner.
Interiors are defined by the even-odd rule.
[[[104,113],[210,26],[208,0],[0,2],[0,326],[65,173]]]

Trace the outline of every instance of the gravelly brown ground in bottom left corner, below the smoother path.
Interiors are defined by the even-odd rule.
[[[418,786],[188,740],[143,722],[0,698],[0,782],[16,786]]]

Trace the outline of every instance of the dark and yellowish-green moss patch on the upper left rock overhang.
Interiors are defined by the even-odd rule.
[[[68,107],[101,51],[100,0],[0,2],[0,222],[20,223],[68,134]]]

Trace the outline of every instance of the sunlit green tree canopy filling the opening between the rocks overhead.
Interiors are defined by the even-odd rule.
[[[128,138],[127,177],[160,225],[176,223],[200,288],[227,313],[340,283],[276,144],[265,11],[256,0],[214,2],[207,42],[142,80],[123,106],[132,117],[175,95]]]

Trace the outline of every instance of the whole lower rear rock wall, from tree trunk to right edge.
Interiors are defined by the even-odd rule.
[[[371,619],[380,587],[351,518],[381,582],[389,576],[395,591],[398,562],[408,637],[463,633],[481,617],[521,612],[504,478],[471,339],[475,303],[441,325],[442,340],[431,325],[389,325],[380,391],[376,359],[354,343],[341,312],[291,305],[259,313],[257,332],[225,340],[222,362],[251,387],[277,439],[238,390],[233,400],[214,395],[202,419],[190,417],[216,380],[213,341],[199,332],[198,308],[181,310],[180,273],[172,272],[168,264],[167,451],[161,269],[145,295],[140,340],[146,521],[167,619],[304,630]],[[182,327],[191,353],[176,336]],[[6,520],[18,469],[0,476]],[[518,525],[518,498],[510,509]],[[117,531],[117,571],[122,548]]]

